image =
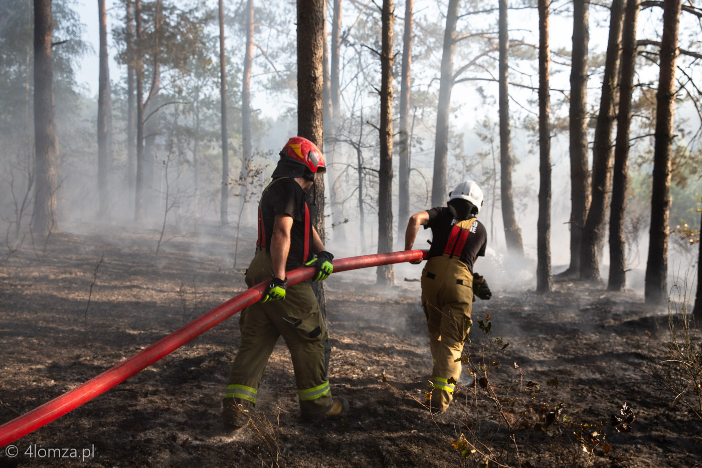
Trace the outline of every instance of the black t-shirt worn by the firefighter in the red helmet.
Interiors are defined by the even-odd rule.
[[[301,266],[305,261],[312,259],[312,220],[307,216],[309,226],[309,251],[307,259],[303,259],[305,252],[305,200],[307,194],[294,178],[282,177],[276,179],[263,193],[260,209],[263,215],[265,230],[265,249],[270,252],[270,238],[273,233],[275,215],[288,214],[293,218],[293,227],[290,231],[290,252],[285,264],[286,271],[291,271]]]

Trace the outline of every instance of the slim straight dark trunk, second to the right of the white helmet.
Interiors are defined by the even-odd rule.
[[[505,2],[506,3],[506,2]],[[537,264],[536,291],[551,292],[553,278],[551,274],[551,135],[549,114],[551,98],[549,96],[548,49],[548,13],[549,0],[538,0],[538,150],[539,175],[541,184],[538,190],[537,221]]]

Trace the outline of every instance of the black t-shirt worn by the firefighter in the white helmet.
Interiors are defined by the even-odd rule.
[[[429,249],[428,259],[435,256],[440,256],[444,253],[446,242],[449,242],[449,235],[453,229],[454,218],[453,214],[447,207],[434,207],[428,209],[429,222],[424,228],[432,229],[432,246]],[[470,273],[473,272],[473,262],[479,256],[485,256],[485,247],[487,246],[487,230],[483,223],[477,219],[470,227],[470,233],[465,240],[463,252],[461,252],[461,261],[468,266]]]

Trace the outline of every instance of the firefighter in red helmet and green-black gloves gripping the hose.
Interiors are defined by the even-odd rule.
[[[248,424],[247,412],[256,406],[263,370],[281,335],[293,361],[303,417],[337,417],[348,409],[345,398],[331,396],[329,334],[312,287],[308,282],[286,285],[286,271],[303,264],[316,269],[313,281],[325,280],[333,271],[333,255],[312,226],[306,202],[306,190],[324,171],[317,145],[295,136],[280,152],[273,180],[261,195],[256,254],[246,271],[246,285],[270,284],[263,299],[241,313],[241,345],[223,401],[227,431]]]

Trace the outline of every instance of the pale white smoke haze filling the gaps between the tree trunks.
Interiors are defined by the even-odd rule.
[[[427,7],[430,8],[427,8]],[[117,11],[118,5],[112,13],[111,27],[117,27],[121,21],[121,13]],[[79,18],[93,30],[93,17],[84,13],[84,7],[77,6]],[[272,7],[271,7],[272,8]],[[344,15],[344,27],[351,27],[358,13],[350,11]],[[442,5],[441,8],[444,8]],[[443,17],[432,2],[416,2],[418,13],[417,22],[436,27],[441,32]],[[237,30],[236,12],[230,12],[229,28],[231,39],[227,47],[230,56],[230,186],[229,198],[229,224],[219,226],[219,193],[220,193],[220,148],[218,142],[218,89],[216,80],[208,84],[207,99],[203,99],[200,133],[194,133],[194,100],[183,91],[178,98],[178,86],[183,89],[190,86],[188,77],[179,76],[176,72],[164,71],[164,86],[161,90],[164,101],[178,98],[179,103],[168,105],[154,115],[158,119],[158,134],[156,136],[154,153],[151,160],[154,175],[146,185],[147,208],[142,221],[134,221],[134,187],[131,176],[126,173],[128,162],[126,157],[126,99],[124,85],[125,68],[116,67],[113,63],[112,71],[112,99],[113,99],[113,131],[112,138],[113,160],[110,165],[109,177],[109,202],[106,213],[100,212],[98,207],[97,186],[97,144],[95,141],[96,122],[96,81],[86,83],[84,79],[92,79],[93,72],[97,70],[96,57],[91,53],[76,55],[72,66],[76,68],[75,79],[58,77],[57,84],[57,125],[60,140],[60,190],[58,192],[58,225],[60,230],[72,233],[100,233],[110,242],[117,242],[119,248],[128,249],[138,247],[145,252],[155,252],[158,240],[164,253],[159,252],[159,262],[164,261],[163,256],[168,255],[168,245],[178,245],[187,249],[194,260],[201,254],[218,254],[221,257],[221,268],[246,268],[253,252],[253,242],[256,238],[256,204],[260,190],[267,183],[274,165],[277,153],[282,148],[289,136],[296,133],[296,96],[295,96],[295,64],[294,51],[280,50],[276,52],[277,67],[284,70],[281,82],[270,81],[270,76],[278,77],[270,63],[265,58],[259,57],[254,64],[253,100],[257,110],[254,135],[253,167],[261,168],[255,180],[246,182],[248,194],[243,208],[241,196],[236,180],[241,173],[241,136],[240,136],[240,96],[241,83],[238,81],[241,70],[237,63],[242,54],[242,46],[234,37],[239,34]],[[92,13],[90,13],[92,15]],[[263,11],[260,14],[264,14]],[[377,39],[378,18],[368,13],[365,25],[357,25],[355,40],[359,44],[370,44],[371,39]],[[593,109],[593,117],[599,103],[600,84],[602,79],[602,63],[600,54],[606,47],[607,11],[605,8],[592,7],[592,30],[590,32],[591,72],[588,103]],[[645,16],[640,22],[641,37],[656,37],[656,28],[659,28],[658,17],[650,11],[642,12]],[[377,16],[377,15],[376,15]],[[495,16],[483,15],[491,22]],[[513,25],[519,32],[513,32],[515,39],[536,42],[536,13],[524,11],[513,13]],[[472,23],[471,23],[472,24]],[[294,32],[294,25],[289,24],[289,32]],[[471,27],[471,25],[463,25]],[[475,25],[473,25],[475,27]],[[402,34],[402,22],[397,22],[395,37],[399,41]],[[207,32],[214,37],[215,25],[208,24]],[[60,27],[58,28],[60,30]],[[690,31],[693,29],[690,28]],[[571,17],[569,11],[559,12],[552,18],[552,49],[559,60],[567,60],[570,48]],[[92,34],[92,33],[91,33]],[[267,34],[267,33],[266,33]],[[413,102],[414,112],[413,140],[411,145],[411,171],[410,175],[410,214],[429,209],[428,201],[432,183],[432,168],[434,157],[434,126],[436,119],[437,89],[435,78],[438,76],[440,61],[440,45],[442,34],[435,34],[423,38],[425,44],[417,44],[418,57],[415,58],[413,67]],[[117,52],[115,42],[110,39],[110,56]],[[396,43],[396,48],[399,42]],[[273,47],[273,45],[268,44]],[[465,61],[479,44],[466,43],[459,48],[455,59],[458,65]],[[96,46],[93,46],[97,49]],[[438,51],[438,52],[437,52]],[[557,52],[557,53],[556,53]],[[517,74],[528,74],[527,83],[536,77],[536,60],[531,52],[515,51],[512,65],[515,67],[514,79]],[[360,56],[359,56],[360,54]],[[343,122],[337,129],[337,137],[356,141],[361,138],[362,143],[362,189],[364,190],[364,234],[360,233],[361,214],[358,207],[358,171],[357,151],[352,145],[343,141],[325,142],[324,153],[336,174],[336,180],[331,180],[329,172],[325,176],[326,190],[326,235],[327,248],[335,254],[336,258],[373,254],[377,252],[377,174],[378,167],[378,134],[370,124],[360,124],[362,121],[378,123],[377,96],[371,92],[370,86],[378,83],[378,63],[370,51],[357,51],[353,47],[343,48],[343,93],[342,110]],[[82,60],[82,61],[80,61]],[[77,69],[77,63],[86,69]],[[396,60],[399,69],[401,57]],[[359,64],[367,67],[366,81],[355,77]],[[495,65],[492,63],[490,66]],[[569,89],[569,67],[559,63],[552,65],[553,89]],[[89,71],[87,69],[90,69]],[[696,71],[695,71],[696,72]],[[399,72],[395,73],[397,77]],[[20,75],[18,74],[18,77]],[[512,78],[512,77],[510,77]],[[640,81],[657,79],[656,69],[651,65],[641,63]],[[522,81],[524,82],[524,81]],[[3,85],[4,86],[4,85]],[[8,88],[12,91],[11,88]],[[4,89],[4,91],[8,91]],[[396,79],[395,89],[399,91],[399,82]],[[538,209],[538,154],[536,152],[536,136],[533,131],[535,112],[537,109],[536,93],[528,89],[510,87],[512,101],[510,112],[512,117],[512,153],[517,160],[513,174],[515,187],[515,205],[517,223],[522,230],[524,252],[526,258],[519,259],[508,256],[505,249],[501,204],[499,200],[499,181],[494,177],[494,158],[499,155],[499,138],[489,141],[489,136],[495,136],[498,108],[496,104],[495,83],[468,82],[456,84],[452,95],[451,141],[449,142],[449,160],[446,194],[461,180],[471,178],[477,181],[486,196],[486,201],[479,220],[486,225],[489,233],[488,250],[484,258],[479,259],[476,270],[486,277],[491,287],[496,290],[533,290],[536,285],[534,276],[536,270],[536,221]],[[63,91],[62,91],[63,90]],[[69,90],[69,91],[66,91]],[[8,91],[8,92],[9,92]],[[203,91],[204,92],[204,91]],[[399,93],[396,93],[399,95]],[[6,96],[4,94],[3,96]],[[395,112],[397,117],[398,113]],[[552,91],[552,122],[567,115],[567,99],[564,93]],[[31,118],[29,119],[31,121]],[[5,122],[5,121],[4,121]],[[690,143],[690,149],[698,150],[698,142],[692,141],[700,122],[689,100],[677,106],[676,122],[680,123],[680,140]],[[594,120],[592,122],[594,124]],[[591,125],[594,126],[594,125]],[[27,192],[27,174],[31,172],[33,160],[33,145],[31,125],[29,128],[4,124],[2,130],[2,145],[0,149],[0,164],[2,167],[2,183],[0,185],[0,224],[1,232],[8,232],[7,240],[10,243],[17,241],[13,229],[16,227],[16,212],[21,206],[22,197],[29,194],[29,208],[26,208],[20,219],[21,232],[27,233],[27,226],[32,216],[32,190]],[[637,130],[645,133],[643,124],[639,123]],[[363,136],[359,134],[363,132]],[[594,129],[590,129],[590,133]],[[25,138],[28,135],[29,138]],[[22,138],[20,138],[20,136]],[[199,158],[194,161],[194,145],[196,137],[199,138]],[[487,138],[487,139],[486,139]],[[651,138],[642,138],[633,145],[632,160],[647,157],[651,150]],[[333,150],[332,150],[333,148]],[[397,140],[395,142],[397,154]],[[498,163],[498,161],[497,161]],[[406,220],[397,219],[397,157],[394,167],[394,206],[395,218],[393,234],[395,248],[402,249],[404,243],[404,226]],[[563,271],[569,263],[569,213],[570,213],[570,175],[568,157],[567,131],[558,127],[554,130],[552,138],[552,221],[551,221],[551,254],[554,273]],[[197,186],[195,184],[195,169],[197,167]],[[632,164],[633,178],[648,181],[650,164]],[[699,196],[700,183],[697,178],[690,175],[687,188],[679,190],[681,196],[673,199],[673,213],[678,216],[685,213],[686,221],[691,226],[696,226],[698,216],[691,215],[691,210],[696,207],[695,196]],[[332,184],[339,187],[342,204],[333,207],[331,204],[330,190]],[[638,193],[646,194],[645,189]],[[687,196],[683,198],[682,195]],[[643,287],[643,274],[645,271],[647,255],[647,233],[649,225],[649,203],[642,198],[631,200],[628,207],[628,216],[641,214],[640,222],[635,237],[628,239],[633,248],[628,256],[628,265],[632,268],[628,272],[627,286],[629,290],[641,292]],[[678,208],[679,207],[679,208]],[[241,209],[241,211],[239,211]],[[336,219],[335,219],[336,216]],[[680,217],[680,216],[678,216]],[[165,218],[165,221],[164,221]],[[348,220],[332,228],[332,223]],[[675,226],[680,219],[671,216],[671,224]],[[604,227],[607,237],[608,226]],[[341,231],[343,230],[343,235]],[[112,237],[111,233],[119,233]],[[127,235],[124,235],[127,234]],[[420,230],[415,242],[415,248],[427,249],[426,239],[430,230]],[[15,236],[16,237],[16,236]],[[696,249],[681,247],[671,235],[669,249],[669,283],[673,278],[689,271],[689,278],[696,267]],[[133,240],[130,240],[132,239]],[[238,238],[238,240],[237,240]],[[216,242],[212,240],[227,240],[230,248],[227,252],[218,252]],[[26,245],[25,245],[26,247]],[[604,244],[600,268],[603,282],[607,281],[609,268],[608,245]],[[234,258],[236,252],[236,258]],[[418,278],[420,266],[395,266],[397,283],[402,287],[414,287],[413,283],[405,283],[404,278]],[[350,278],[371,284],[375,280],[373,270],[343,273]],[[694,287],[694,282],[691,287]]]

